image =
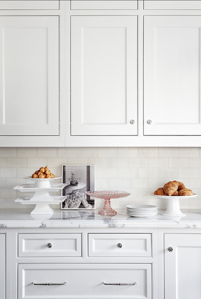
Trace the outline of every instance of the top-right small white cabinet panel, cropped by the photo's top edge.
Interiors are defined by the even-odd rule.
[[[201,9],[199,0],[144,0],[144,9]]]

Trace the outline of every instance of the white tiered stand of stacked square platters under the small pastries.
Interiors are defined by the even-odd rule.
[[[26,179],[34,181],[33,184],[22,184],[14,187],[13,189],[19,190],[20,192],[34,192],[31,196],[22,196],[15,200],[20,204],[35,204],[34,210],[31,214],[53,214],[54,210],[50,208],[49,204],[60,204],[63,202],[67,196],[51,196],[49,192],[57,192],[63,189],[66,184],[62,183],[50,183],[54,178],[32,178],[24,177]]]

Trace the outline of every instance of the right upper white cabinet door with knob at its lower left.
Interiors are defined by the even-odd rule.
[[[200,26],[200,16],[144,17],[144,135],[201,135]]]

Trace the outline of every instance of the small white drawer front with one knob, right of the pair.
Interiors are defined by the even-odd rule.
[[[151,234],[88,234],[89,256],[152,256]]]

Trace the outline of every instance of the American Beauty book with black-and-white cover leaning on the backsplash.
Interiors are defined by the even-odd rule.
[[[67,184],[62,190],[66,196],[62,210],[95,209],[95,198],[85,193],[95,190],[95,165],[62,164],[62,183]]]

